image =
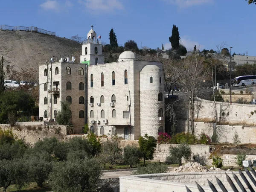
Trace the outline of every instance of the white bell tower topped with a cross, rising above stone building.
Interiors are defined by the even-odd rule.
[[[91,30],[87,34],[87,39],[82,44],[81,63],[87,65],[97,65],[104,63],[104,55],[102,55],[101,37],[97,37],[96,32]]]

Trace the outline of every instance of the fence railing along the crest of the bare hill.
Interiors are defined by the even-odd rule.
[[[43,33],[47,35],[56,35],[55,32],[47,31],[45,29],[40,29],[34,26],[9,26],[9,25],[0,25],[0,30],[9,30],[9,31],[34,31],[38,33]]]

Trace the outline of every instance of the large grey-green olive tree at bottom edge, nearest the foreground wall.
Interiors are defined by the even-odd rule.
[[[54,163],[49,183],[55,192],[91,192],[101,177],[102,166],[95,159]]]

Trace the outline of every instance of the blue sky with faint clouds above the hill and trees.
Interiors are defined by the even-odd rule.
[[[245,0],[3,0],[0,25],[37,26],[60,37],[85,37],[91,24],[109,43],[114,29],[119,45],[170,47],[173,24],[188,50],[214,49],[221,42],[232,53],[256,55],[256,5]]]

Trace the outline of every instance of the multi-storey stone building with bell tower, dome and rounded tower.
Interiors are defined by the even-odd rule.
[[[55,118],[61,101],[67,100],[75,133],[81,133],[88,122],[97,135],[129,140],[144,134],[157,137],[165,127],[162,63],[139,61],[125,51],[117,62],[104,64],[96,37],[92,26],[82,45],[81,64],[73,58],[39,67],[39,115],[44,120]]]

